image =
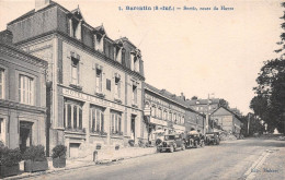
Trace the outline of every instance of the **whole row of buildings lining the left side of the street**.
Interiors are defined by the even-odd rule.
[[[183,94],[145,82],[140,50],[128,38],[111,39],[79,8],[36,0],[0,41],[0,139],[9,147],[43,144],[49,155],[65,144],[78,157],[98,144],[152,141],[158,131],[214,131]]]

